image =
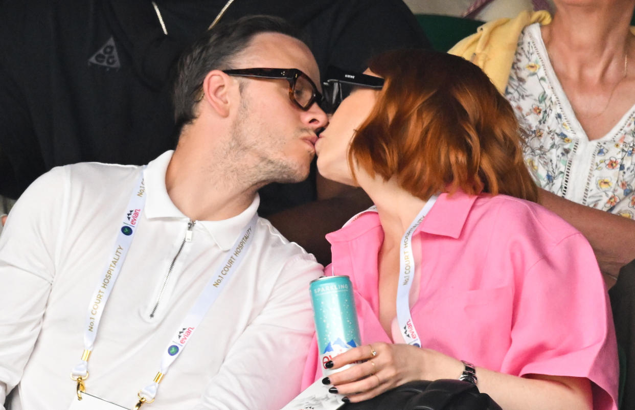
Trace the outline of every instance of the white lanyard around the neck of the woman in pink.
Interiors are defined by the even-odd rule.
[[[413,260],[412,253],[412,235],[417,230],[418,226],[424,221],[425,215],[427,215],[432,209],[434,202],[436,202],[438,196],[432,195],[424,207],[419,211],[415,220],[410,224],[408,230],[401,237],[401,244],[399,244],[399,284],[397,288],[397,321],[399,322],[399,329],[402,331],[404,341],[408,345],[421,347],[421,341],[415,329],[415,323],[412,321],[410,315],[410,288],[412,286],[412,275],[415,273],[415,261]],[[377,212],[377,207],[371,206],[353,216],[344,226],[349,225],[359,216],[366,212]],[[333,272],[335,274],[335,272]]]

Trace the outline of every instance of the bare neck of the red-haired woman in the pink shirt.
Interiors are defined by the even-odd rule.
[[[379,220],[384,229],[384,246],[399,247],[403,234],[408,230],[425,202],[399,187],[394,179],[358,178],[359,185],[377,206]]]

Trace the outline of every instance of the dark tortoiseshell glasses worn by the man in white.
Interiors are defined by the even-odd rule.
[[[290,100],[305,111],[314,102],[319,104],[324,99],[311,78],[298,69],[236,69],[223,72],[237,77],[285,79],[289,82]]]

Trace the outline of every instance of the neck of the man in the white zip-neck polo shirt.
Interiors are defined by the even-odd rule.
[[[165,175],[171,201],[190,220],[217,221],[239,215],[264,185],[241,178],[239,164],[218,145],[201,143],[210,138],[189,129],[180,137]]]

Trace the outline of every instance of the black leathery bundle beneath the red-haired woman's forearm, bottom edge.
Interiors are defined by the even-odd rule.
[[[340,410],[502,410],[486,393],[468,381],[440,379],[410,381]]]

